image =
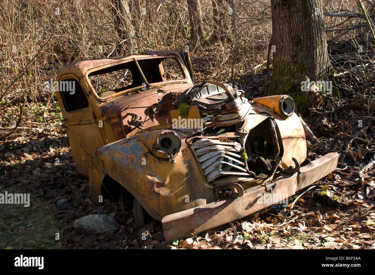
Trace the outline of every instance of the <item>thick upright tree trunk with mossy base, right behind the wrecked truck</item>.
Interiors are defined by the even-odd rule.
[[[272,94],[289,94],[301,113],[316,100],[302,81],[327,81],[330,62],[321,0],[271,0]],[[313,95],[314,93],[314,95]]]

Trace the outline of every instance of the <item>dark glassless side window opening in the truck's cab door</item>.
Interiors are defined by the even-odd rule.
[[[74,78],[58,81],[57,90],[67,112],[89,107],[89,101],[80,83]]]

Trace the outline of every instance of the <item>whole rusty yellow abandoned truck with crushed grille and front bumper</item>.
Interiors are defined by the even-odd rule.
[[[189,53],[77,61],[56,90],[75,164],[93,201],[125,188],[135,222],[144,210],[166,242],[240,219],[336,169],[337,153],[306,160],[290,96],[249,101],[236,87],[197,83]],[[63,88],[62,88],[63,87]]]

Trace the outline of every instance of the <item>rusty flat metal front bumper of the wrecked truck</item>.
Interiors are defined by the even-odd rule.
[[[215,201],[167,215],[162,219],[165,241],[191,237],[192,234],[199,234],[275,204],[274,201],[270,203],[269,200],[264,200],[262,197],[265,194],[280,195],[279,197],[284,195],[288,198],[334,171],[338,159],[338,153],[329,153],[309,162],[301,167],[300,172],[291,176],[281,176],[266,185],[245,190],[240,198]]]

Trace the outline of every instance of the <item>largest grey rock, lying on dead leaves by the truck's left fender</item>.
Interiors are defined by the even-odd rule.
[[[116,230],[116,219],[105,214],[92,214],[74,221],[74,227],[81,230],[96,229],[96,231]]]

